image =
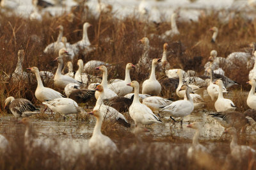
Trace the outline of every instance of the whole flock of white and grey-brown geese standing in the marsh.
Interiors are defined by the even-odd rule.
[[[92,114],[97,118],[92,137],[89,141],[90,149],[95,152],[106,150],[106,148],[108,148],[107,152],[118,151],[116,144],[100,131],[103,120],[111,120],[109,123],[116,121],[124,125],[124,127],[131,127],[131,122],[123,114],[124,112],[129,112],[129,116],[134,121],[135,126],[141,127],[141,125],[163,123],[161,121],[161,114],[167,114],[173,121],[176,121],[175,118],[180,118],[180,124],[182,125],[184,117],[191,114],[195,109],[204,108],[204,96],[207,93],[206,95],[211,97],[212,102],[215,102],[214,107],[217,111],[214,114],[210,114],[210,116],[225,127],[225,132],[232,135],[230,143],[231,155],[234,158],[241,158],[249,153],[256,154],[256,151],[250,148],[250,146],[237,144],[237,133],[239,134],[241,129],[244,130],[247,125],[251,125],[256,130],[256,95],[254,94],[256,88],[254,80],[256,77],[256,64],[253,66],[252,71],[250,71],[250,81],[248,81],[252,89],[246,102],[251,109],[244,113],[236,112],[234,102],[225,98],[225,94],[228,93],[227,89],[235,86],[237,83],[226,77],[224,70],[221,68],[223,63],[225,66],[237,68],[239,67],[235,63],[237,60],[239,60],[239,63],[243,63],[243,66],[248,66],[250,65],[248,61],[253,61],[253,59],[249,59],[253,58],[252,53],[234,52],[227,58],[220,58],[217,57],[216,50],[212,50],[209,62],[205,64],[205,75],[196,77],[193,70],[185,72],[181,69],[170,69],[170,63],[168,63],[166,58],[167,43],[163,45],[163,58],[155,58],[150,61],[151,59],[148,58],[148,50],[150,50],[149,40],[147,37],[144,37],[140,40],[144,45],[144,50],[138,64],[127,63],[124,80],[113,79],[108,81],[107,67],[111,65],[104,61],[92,60],[84,65],[83,60],[79,59],[77,61],[79,66],[77,72],[74,72],[72,68],[72,63],[74,63],[74,59],[78,54],[83,53],[86,55],[96,49],[91,45],[87,35],[87,29],[90,26],[88,22],[84,23],[83,38],[74,44],[67,42],[67,38],[63,37],[63,26],[58,26],[57,29],[60,32],[57,41],[47,45],[44,50],[47,54],[58,52],[58,58],[55,59],[58,62],[58,68],[55,74],[51,71],[40,71],[36,66],[27,68],[27,70],[35,74],[37,81],[35,97],[45,105],[45,110],[49,108],[52,112],[61,114],[64,119],[68,114],[82,114],[83,116]],[[212,27],[211,30],[214,31],[212,42],[215,42],[218,29]],[[176,33],[178,32],[176,31]],[[170,33],[166,33],[166,36],[170,36]],[[24,55],[24,50],[19,50],[17,68],[10,77],[7,77],[12,79],[13,82],[29,81],[29,73],[24,72],[22,68]],[[253,55],[256,57],[256,52],[253,51]],[[68,60],[68,73],[63,74],[63,61],[65,59]],[[134,68],[140,70],[141,66],[148,67],[148,72],[151,67],[151,71],[150,77],[142,83],[142,91],[140,93],[140,83],[131,80],[130,70]],[[157,66],[159,66],[159,70],[166,73],[166,77],[168,77],[170,82],[173,80],[176,80],[173,83],[179,82],[176,94],[180,100],[173,102],[168,98],[159,97],[163,85],[156,79]],[[102,72],[102,80],[90,74],[95,69]],[[53,80],[54,86],[58,89],[63,89],[65,95],[52,88],[45,87],[43,81],[47,80]],[[202,87],[207,88],[205,90]],[[79,104],[87,102],[95,105],[92,112],[86,112],[79,106]],[[14,97],[8,97],[4,101],[4,108],[6,107],[10,109],[15,118],[22,117],[23,119],[20,122],[24,124],[29,121],[28,118],[24,117],[40,112],[40,110],[36,109],[35,105],[25,98],[15,99]],[[195,122],[189,124],[188,127],[196,130],[193,137],[193,145],[188,150],[188,157],[193,157],[198,151],[209,153],[205,146],[198,143],[200,124]],[[0,141],[0,149],[8,148],[8,141],[3,135],[0,135]]]

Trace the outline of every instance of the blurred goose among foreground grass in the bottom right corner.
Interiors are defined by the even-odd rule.
[[[253,157],[256,155],[256,151],[253,150],[253,148],[251,148],[250,146],[237,144],[238,139],[237,139],[236,128],[234,127],[227,128],[225,132],[232,136],[232,141],[230,143],[230,150],[233,158],[241,161],[241,158],[250,157],[251,154],[253,155]]]

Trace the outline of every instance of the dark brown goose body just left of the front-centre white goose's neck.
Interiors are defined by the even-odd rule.
[[[111,97],[103,100],[104,105],[109,105],[115,108],[118,112],[127,112],[132,104],[134,94],[131,98],[126,97]]]

